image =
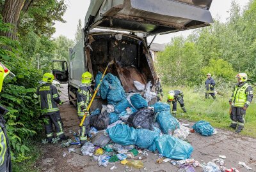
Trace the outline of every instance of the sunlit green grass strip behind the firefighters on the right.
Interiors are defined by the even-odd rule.
[[[231,130],[228,126],[230,125],[230,115],[228,100],[230,99],[231,93],[224,96],[217,95],[217,99],[214,100],[205,99],[204,93],[195,92],[193,89],[188,87],[168,87],[164,86],[164,98],[163,101],[167,100],[167,94],[169,90],[182,90],[184,92],[184,104],[187,113],[183,113],[182,109],[177,104],[177,118],[184,118],[186,120],[198,121],[206,120],[210,122],[212,126],[221,129]],[[246,136],[252,136],[256,138],[256,104],[255,99],[250,104],[248,110],[246,110],[246,123],[241,134]]]

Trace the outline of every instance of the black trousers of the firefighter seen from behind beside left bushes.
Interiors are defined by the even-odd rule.
[[[51,141],[53,137],[52,133],[52,124],[55,127],[56,131],[56,136],[59,138],[63,138],[65,136],[64,131],[63,131],[63,123],[61,121],[60,117],[60,111],[56,111],[56,113],[52,115],[44,115],[45,118],[45,134],[48,139],[48,141]]]

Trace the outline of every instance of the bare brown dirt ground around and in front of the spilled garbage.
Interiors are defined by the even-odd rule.
[[[67,95],[67,85],[63,85],[62,92]],[[63,101],[68,100],[68,97],[61,94]],[[61,117],[64,124],[65,133],[72,137],[69,133],[70,130],[76,131],[79,129],[79,120],[77,118],[76,108],[65,103],[60,107]],[[191,122],[183,121],[184,123]],[[201,136],[200,134],[191,133],[188,136],[188,141],[194,148],[191,158],[200,162],[209,162],[212,159],[218,158],[219,155],[225,155],[225,166],[227,168],[237,168],[239,171],[256,171],[256,140],[246,136],[234,134],[230,131],[223,131],[217,129],[218,134],[214,136]],[[62,148],[60,143],[50,145],[42,144],[43,155],[38,159],[36,168],[39,171],[110,171],[113,164],[108,164],[107,168],[98,166],[97,161],[93,161],[92,157],[81,154],[80,147],[78,145],[72,145],[76,148],[76,153],[68,152],[68,148]],[[63,154],[66,153],[65,157]],[[132,171],[179,171],[178,168],[170,164],[170,162],[163,162],[157,164],[157,158],[159,154],[152,154],[148,152],[147,159],[142,160],[144,167],[147,169],[134,169]],[[245,162],[250,166],[250,170],[247,170],[238,162]],[[113,171],[125,171],[125,167],[122,164],[115,163],[116,169]],[[196,171],[203,171],[202,168],[195,168]]]

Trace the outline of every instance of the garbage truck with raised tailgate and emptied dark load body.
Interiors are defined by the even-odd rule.
[[[211,3],[212,0],[91,0],[83,38],[70,48],[68,64],[53,61],[58,68],[52,69],[52,73],[61,83],[68,83],[68,97],[74,105],[82,73],[89,71],[95,79],[110,61],[115,63],[107,73],[118,77],[125,92],[140,92],[134,81],[145,85],[151,82],[154,91],[157,73],[148,36],[210,25]],[[152,99],[149,104],[156,101],[157,98]],[[97,97],[91,110],[102,104],[106,100]]]

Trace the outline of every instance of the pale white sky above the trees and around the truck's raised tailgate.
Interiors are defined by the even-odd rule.
[[[75,34],[77,31],[78,20],[82,20],[82,26],[84,26],[84,17],[86,11],[90,5],[90,0],[65,0],[67,3],[67,11],[63,16],[66,23],[56,22],[56,32],[52,36],[56,38],[60,35],[67,36],[69,39],[75,39]],[[92,0],[96,1],[96,0]],[[211,14],[213,18],[220,18],[221,22],[225,22],[229,16],[228,11],[231,8],[232,0],[212,0],[211,4]],[[236,0],[236,2],[243,9],[249,0]],[[154,39],[154,43],[169,43],[171,39],[175,36],[188,36],[193,30],[180,31],[172,34],[157,35]],[[148,38],[150,41],[152,38]]]

